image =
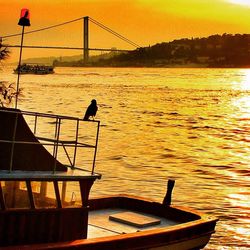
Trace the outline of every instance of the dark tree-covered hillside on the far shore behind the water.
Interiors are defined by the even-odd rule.
[[[82,55],[32,58],[23,62],[75,67],[250,67],[250,34],[183,38],[127,53],[114,51],[92,56],[87,64]]]

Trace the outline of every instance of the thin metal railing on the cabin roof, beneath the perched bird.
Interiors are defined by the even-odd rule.
[[[14,145],[16,144],[30,144],[30,145],[42,144],[46,149],[52,147],[52,150],[50,151],[52,151],[51,154],[55,159],[53,172],[56,171],[56,161],[57,160],[61,161],[61,159],[59,159],[60,157],[58,152],[59,149],[62,149],[62,152],[64,152],[63,153],[64,161],[65,159],[67,159],[67,164],[65,164],[65,162],[61,162],[64,166],[67,166],[71,169],[89,171],[91,172],[91,174],[94,174],[95,164],[96,164],[96,154],[98,148],[100,121],[97,120],[84,121],[83,119],[71,116],[39,113],[32,111],[20,111],[18,109],[1,109],[1,112],[16,114],[16,119],[15,119],[16,124],[14,125],[12,140],[2,140],[0,138],[0,142],[11,143],[12,148],[14,148]],[[17,121],[19,115],[24,117],[25,121],[27,122],[30,130],[33,132],[37,141],[16,140],[15,135],[17,133],[16,130],[17,130]],[[67,126],[63,128],[63,126],[66,123],[68,123]],[[39,130],[40,126],[41,129]],[[83,128],[85,130],[84,135],[80,133],[80,130],[82,131]],[[83,169],[77,166],[76,164],[77,153],[80,148],[91,149],[92,159],[89,160],[88,158],[88,161],[92,161],[91,170]],[[71,150],[70,153],[69,150]],[[13,151],[14,150],[12,150],[10,170],[12,170],[11,165],[12,165]]]

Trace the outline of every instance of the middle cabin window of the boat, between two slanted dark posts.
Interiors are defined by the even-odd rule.
[[[57,207],[53,182],[32,181],[31,188],[36,208]]]

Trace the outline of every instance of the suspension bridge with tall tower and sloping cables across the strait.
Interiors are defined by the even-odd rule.
[[[110,34],[112,34],[113,36],[116,36],[117,38],[123,40],[124,42],[128,43],[129,45],[133,46],[135,49],[140,48],[141,46],[136,44],[135,42],[131,41],[130,39],[126,38],[125,36],[117,33],[116,31],[110,29],[109,27],[107,27],[106,25],[98,22],[97,20],[89,17],[89,16],[84,16],[84,17],[80,17],[74,20],[70,20],[67,22],[63,22],[60,24],[56,24],[56,25],[52,25],[49,27],[44,27],[41,29],[36,29],[36,30],[32,30],[32,31],[27,31],[24,32],[24,34],[31,34],[31,33],[36,33],[36,32],[42,32],[45,30],[49,30],[49,29],[53,29],[59,26],[63,26],[63,25],[67,25],[73,22],[77,22],[77,21],[82,21],[83,22],[83,46],[82,47],[70,47],[70,46],[41,46],[41,45],[23,45],[23,48],[39,48],[39,49],[61,49],[61,50],[81,50],[83,53],[83,60],[84,63],[87,63],[89,60],[89,51],[105,51],[105,52],[109,52],[109,51],[117,51],[117,52],[129,52],[132,51],[131,50],[125,50],[125,49],[106,49],[106,48],[90,48],[89,47],[89,22],[97,25],[98,27],[100,27],[101,29],[109,32]],[[21,33],[17,33],[17,34],[11,34],[11,35],[6,35],[6,36],[2,36],[1,39],[5,40],[7,38],[11,38],[11,37],[17,37],[17,36],[21,36]],[[2,46],[7,46],[9,48],[19,48],[20,45],[14,45],[14,44],[2,44]]]

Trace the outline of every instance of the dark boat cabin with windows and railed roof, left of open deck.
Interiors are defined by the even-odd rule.
[[[33,131],[25,115],[32,117]],[[0,247],[87,238],[89,192],[101,177],[94,173],[97,140],[86,144],[79,139],[80,123],[89,122],[4,108],[0,117]],[[52,138],[36,135],[38,126],[45,126],[41,118],[53,120],[45,122],[55,127]],[[76,124],[74,140],[61,137],[68,120]],[[99,122],[91,124],[98,137]],[[80,148],[92,150],[89,170],[76,166]]]

